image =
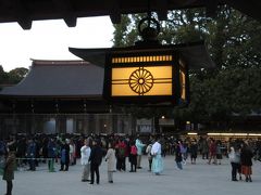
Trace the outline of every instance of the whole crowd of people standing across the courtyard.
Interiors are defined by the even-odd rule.
[[[15,162],[18,167],[27,166],[35,171],[39,162],[48,164],[51,171],[53,164],[60,164],[60,171],[69,171],[70,166],[80,158],[83,166],[82,181],[100,183],[99,167],[102,159],[108,164],[108,182],[113,183],[113,172],[136,172],[142,169],[142,155],[147,155],[148,171],[159,176],[163,171],[165,155],[175,157],[176,167],[183,169],[190,157],[190,164],[197,164],[200,154],[209,165],[221,165],[223,156],[231,160],[232,181],[241,179],[252,182],[252,158],[260,159],[260,140],[229,140],[223,142],[212,138],[174,138],[165,135],[96,135],[96,134],[35,134],[12,135],[0,141],[0,171],[7,181],[7,194],[12,192]],[[126,162],[129,170],[126,170]],[[1,173],[1,172],[0,172]],[[237,179],[237,174],[239,178]]]

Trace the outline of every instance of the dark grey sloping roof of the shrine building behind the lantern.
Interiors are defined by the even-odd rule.
[[[102,67],[84,61],[33,61],[28,75],[0,95],[9,96],[101,96]]]

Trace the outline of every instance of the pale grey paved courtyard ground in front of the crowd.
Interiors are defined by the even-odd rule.
[[[231,181],[231,165],[208,165],[199,159],[197,165],[187,165],[178,170],[173,156],[164,158],[164,172],[154,176],[148,172],[147,157],[142,157],[138,172],[115,172],[114,183],[107,181],[107,162],[100,168],[100,184],[80,182],[80,165],[70,167],[67,172],[48,172],[47,165],[37,171],[15,172],[13,195],[258,195],[261,192],[261,162],[253,161],[252,183]],[[127,168],[129,164],[127,162]],[[59,165],[55,165],[59,170]],[[0,194],[5,192],[5,181],[0,182]]]

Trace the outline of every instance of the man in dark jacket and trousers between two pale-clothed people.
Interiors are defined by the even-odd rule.
[[[102,148],[100,146],[100,142],[98,140],[92,141],[92,147],[90,152],[90,184],[95,182],[95,173],[96,173],[96,183],[100,183],[100,172],[99,167],[102,160]]]

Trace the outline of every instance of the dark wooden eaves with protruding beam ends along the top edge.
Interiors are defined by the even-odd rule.
[[[29,29],[33,20],[63,18],[73,27],[77,17],[98,15],[110,15],[112,23],[120,23],[121,14],[147,12],[148,1],[159,20],[165,20],[169,10],[199,6],[206,6],[207,15],[213,17],[216,4],[228,4],[261,21],[260,0],[0,0],[0,23],[18,22]]]

